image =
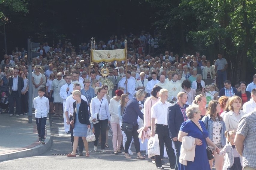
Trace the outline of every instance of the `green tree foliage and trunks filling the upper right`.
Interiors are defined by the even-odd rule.
[[[147,1],[162,8],[155,24],[162,25],[163,34],[171,35],[166,28],[174,32],[178,31],[175,28],[182,29],[184,37],[176,39],[179,41],[176,44],[186,44],[184,51],[203,51],[209,55],[208,59],[215,59],[221,52],[229,63],[230,79],[233,82],[245,80],[247,62],[256,60],[255,0]],[[173,41],[166,38],[164,41]],[[182,42],[184,40],[188,41]]]

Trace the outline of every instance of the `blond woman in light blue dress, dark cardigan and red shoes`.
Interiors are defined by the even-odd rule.
[[[79,90],[73,91],[72,95],[75,102],[73,103],[73,120],[70,121],[70,125],[74,126],[74,144],[72,153],[67,154],[66,156],[76,157],[75,152],[78,145],[78,138],[82,137],[86,156],[89,157],[89,147],[86,140],[87,128],[90,128],[88,103],[81,99],[81,92]]]

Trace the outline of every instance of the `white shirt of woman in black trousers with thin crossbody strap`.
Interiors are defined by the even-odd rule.
[[[96,118],[94,114],[99,113],[99,120],[108,119],[110,121],[108,100],[105,98],[102,98],[101,100],[99,100],[97,96],[92,98],[90,112],[93,119]]]

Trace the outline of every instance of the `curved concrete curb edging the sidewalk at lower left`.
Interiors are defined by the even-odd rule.
[[[45,138],[44,145],[37,145],[33,148],[28,148],[25,150],[14,151],[11,153],[2,154],[2,155],[0,155],[0,162],[6,161],[6,160],[18,159],[18,158],[38,156],[40,154],[43,154],[53,144],[53,140],[52,140],[52,136],[51,136],[51,129],[50,129],[50,122],[49,122],[48,116],[47,116],[47,121],[46,121],[46,130],[47,130],[47,136]]]

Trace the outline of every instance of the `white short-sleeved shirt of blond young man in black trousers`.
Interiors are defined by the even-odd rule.
[[[156,118],[155,123],[160,125],[167,125],[167,109],[172,104],[169,102],[157,101],[151,107],[151,118]]]

